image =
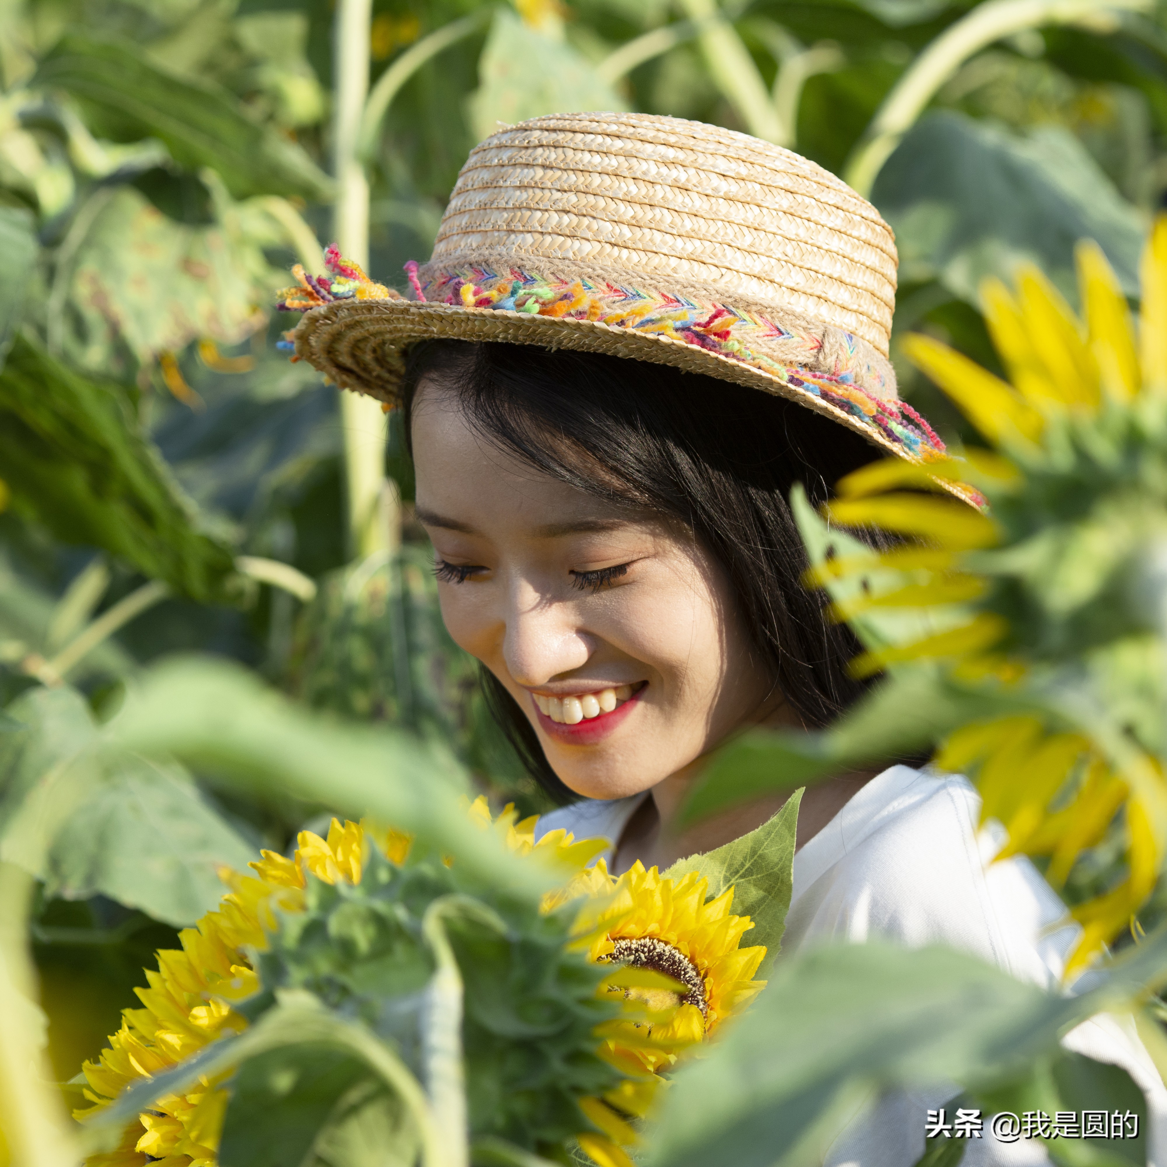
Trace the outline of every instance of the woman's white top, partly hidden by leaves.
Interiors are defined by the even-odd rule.
[[[615,845],[645,797],[585,799],[544,816],[537,834],[566,827]],[[946,944],[1057,991],[1081,929],[1027,858],[992,862],[1004,831],[994,823],[978,831],[979,813],[967,778],[907,766],[885,770],[795,854],[782,951],[839,938]],[[612,848],[605,857],[610,860]],[[1167,1167],[1167,1088],[1133,1021],[1100,1014],[1062,1043],[1127,1070],[1147,1096],[1148,1167]],[[824,1167],[911,1167],[924,1151],[924,1112],[952,1093],[939,1085],[883,1096],[839,1135]],[[963,1167],[1048,1162],[1041,1144],[998,1142],[986,1123],[984,1138],[967,1141]]]

